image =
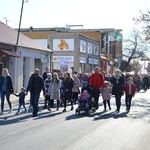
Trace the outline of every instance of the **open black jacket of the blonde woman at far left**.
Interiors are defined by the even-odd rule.
[[[12,85],[11,76],[8,75],[6,78],[7,78],[7,89],[9,91],[9,93],[12,94],[14,92],[14,88],[13,88],[13,85]],[[0,77],[0,90],[2,90],[3,83],[4,83],[4,77],[1,76]]]

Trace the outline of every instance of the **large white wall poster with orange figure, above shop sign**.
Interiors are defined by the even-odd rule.
[[[53,39],[53,51],[74,51],[74,39]]]

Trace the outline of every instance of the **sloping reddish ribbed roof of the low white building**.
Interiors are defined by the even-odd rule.
[[[51,52],[50,49],[38,44],[37,42],[25,36],[24,34],[19,34],[19,42],[18,45],[16,45],[18,31],[12,29],[11,27],[7,26],[6,24],[0,21],[0,43]]]

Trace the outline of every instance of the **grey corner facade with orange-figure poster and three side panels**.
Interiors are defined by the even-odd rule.
[[[76,70],[81,74],[100,65],[100,43],[92,38],[79,33],[51,33],[48,41],[53,50],[54,70]]]

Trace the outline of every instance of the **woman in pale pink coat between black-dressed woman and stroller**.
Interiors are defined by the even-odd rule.
[[[72,88],[72,100],[76,104],[78,100],[78,94],[80,93],[80,80],[77,75],[73,75],[73,88]]]

